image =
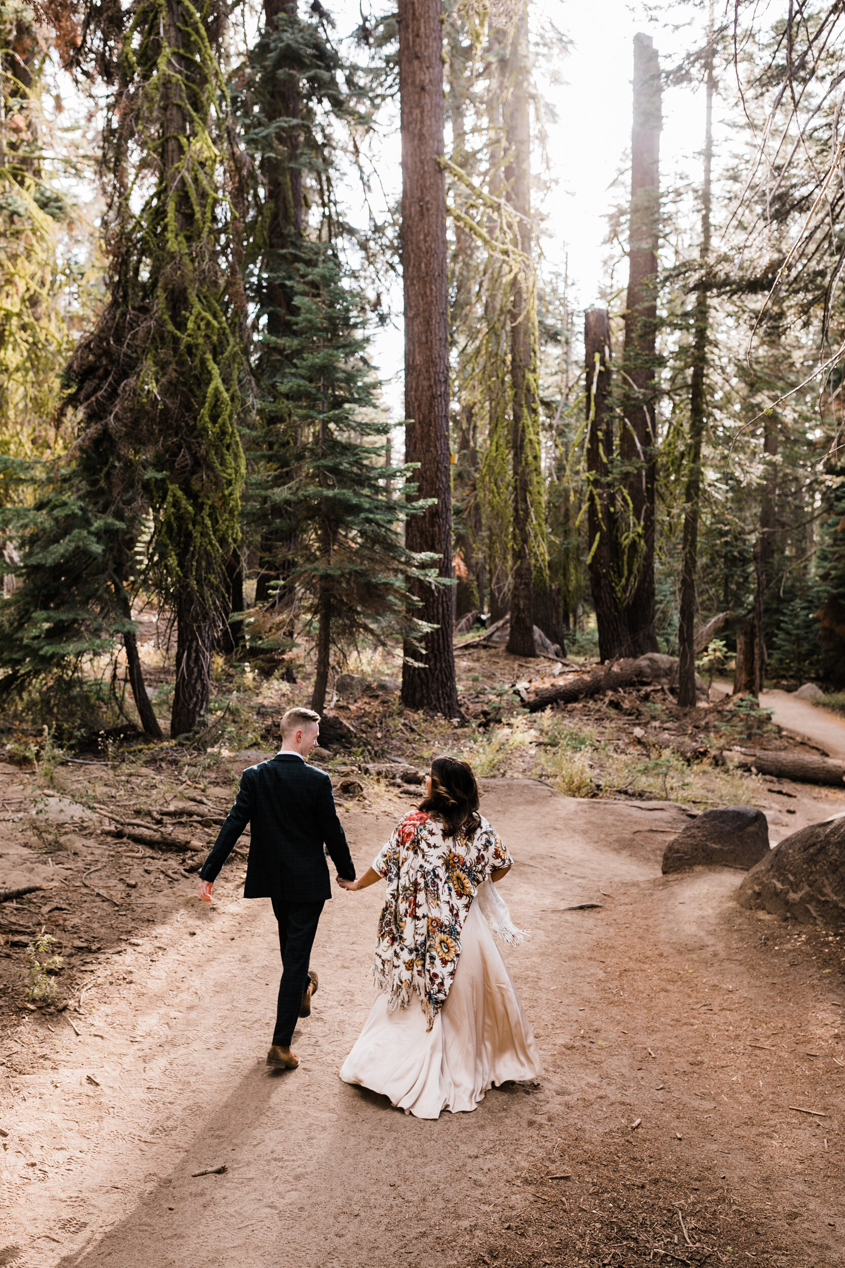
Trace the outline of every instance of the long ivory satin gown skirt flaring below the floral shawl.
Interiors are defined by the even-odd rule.
[[[418,998],[388,1008],[379,994],[341,1068],[346,1083],[389,1097],[418,1118],[475,1110],[484,1093],[542,1074],[531,1023],[475,899],[446,1003],[429,1031]]]

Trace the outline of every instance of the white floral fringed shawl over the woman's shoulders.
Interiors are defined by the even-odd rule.
[[[391,1011],[407,1008],[416,993],[431,1030],[455,976],[473,899],[492,871],[511,862],[486,819],[471,836],[448,839],[423,810],[397,824],[372,862],[388,881],[374,975]]]

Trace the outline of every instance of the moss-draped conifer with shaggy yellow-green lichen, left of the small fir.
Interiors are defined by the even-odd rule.
[[[223,24],[212,3],[134,6],[106,131],[110,301],[70,368],[79,448],[108,432],[109,481],[153,511],[151,576],[177,618],[175,734],[208,705],[243,482],[246,306],[232,241],[238,156],[215,56]]]

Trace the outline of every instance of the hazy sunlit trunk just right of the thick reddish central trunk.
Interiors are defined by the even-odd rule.
[[[531,298],[531,129],[528,118],[528,11],[519,10],[511,38],[509,93],[504,107],[508,146],[505,180],[511,203],[519,217],[517,249],[524,262],[511,279],[511,387],[513,424],[511,462],[513,473],[513,583],[511,588],[511,635],[507,650],[512,656],[536,656],[535,647],[535,555],[532,533],[545,534],[532,524],[531,437],[536,430],[537,349],[535,345]]]

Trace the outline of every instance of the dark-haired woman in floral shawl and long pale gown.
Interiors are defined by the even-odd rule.
[[[542,1073],[490,933],[524,938],[494,888],[512,858],[478,806],[471,767],[437,757],[424,800],[372,866],[359,880],[338,877],[348,890],[388,883],[374,966],[380,993],[341,1078],[418,1118],[475,1110],[494,1084]]]

